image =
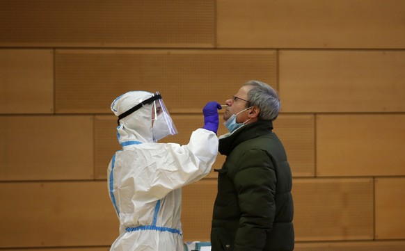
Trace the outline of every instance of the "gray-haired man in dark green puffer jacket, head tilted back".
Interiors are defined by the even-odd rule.
[[[294,250],[292,175],[283,144],[273,133],[280,111],[276,90],[248,81],[226,101],[229,133],[219,137],[226,155],[218,176],[212,251]]]

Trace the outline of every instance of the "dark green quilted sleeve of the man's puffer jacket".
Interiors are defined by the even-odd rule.
[[[262,150],[246,152],[238,163],[234,185],[241,218],[235,236],[235,251],[263,250],[276,212],[276,173]]]

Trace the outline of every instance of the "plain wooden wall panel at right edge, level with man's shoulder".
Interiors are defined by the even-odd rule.
[[[317,115],[317,175],[405,175],[404,128],[405,114]]]

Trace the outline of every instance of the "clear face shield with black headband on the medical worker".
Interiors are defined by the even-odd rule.
[[[143,100],[141,103],[130,108],[128,111],[125,111],[125,113],[119,115],[118,124],[120,124],[120,120],[122,118],[125,118],[127,117],[127,115],[134,113],[135,111],[137,111],[139,108],[142,108],[146,104],[152,104],[151,124],[154,142],[157,142],[157,140],[161,140],[162,138],[168,135],[177,134],[175,124],[173,123],[172,118],[170,118],[170,114],[168,113],[168,110],[164,105],[164,102],[161,99],[161,95],[159,92],[155,92],[152,97]]]

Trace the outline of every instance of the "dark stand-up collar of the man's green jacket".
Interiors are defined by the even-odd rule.
[[[219,153],[228,156],[240,143],[268,134],[272,129],[273,122],[271,122],[271,120],[259,120],[251,124],[246,124],[231,133],[229,136],[225,136],[219,140]]]

